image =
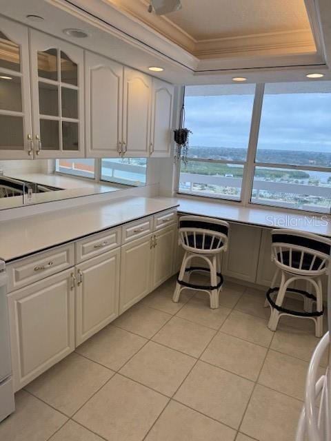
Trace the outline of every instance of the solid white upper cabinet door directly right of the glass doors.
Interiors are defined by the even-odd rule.
[[[86,52],[86,156],[118,157],[121,151],[123,66]]]

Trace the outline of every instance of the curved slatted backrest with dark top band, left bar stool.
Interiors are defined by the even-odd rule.
[[[228,249],[229,228],[225,220],[202,216],[181,216],[179,239],[186,251],[216,254]]]

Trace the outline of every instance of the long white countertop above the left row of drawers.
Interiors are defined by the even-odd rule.
[[[0,223],[0,258],[12,260],[177,207],[173,198],[124,197]]]

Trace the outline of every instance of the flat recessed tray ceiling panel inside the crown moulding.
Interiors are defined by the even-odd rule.
[[[303,0],[181,0],[181,4],[183,8],[167,18],[195,40],[310,30]]]

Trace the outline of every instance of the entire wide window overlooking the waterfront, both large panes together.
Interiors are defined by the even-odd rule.
[[[185,127],[180,193],[330,212],[331,81],[188,86]]]

